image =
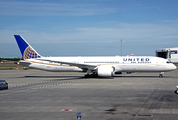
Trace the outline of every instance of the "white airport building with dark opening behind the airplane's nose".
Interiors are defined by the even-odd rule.
[[[178,47],[176,48],[165,48],[156,50],[156,56],[170,60],[173,63],[178,63]]]

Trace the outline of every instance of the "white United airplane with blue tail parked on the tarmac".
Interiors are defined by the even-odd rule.
[[[87,76],[114,77],[127,72],[164,72],[177,67],[167,59],[152,56],[44,57],[20,35],[14,35],[23,60],[19,65],[54,72],[86,72]]]

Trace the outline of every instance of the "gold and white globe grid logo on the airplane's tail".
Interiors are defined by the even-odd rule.
[[[40,58],[40,55],[36,53],[30,46],[28,46],[23,54],[24,59]]]

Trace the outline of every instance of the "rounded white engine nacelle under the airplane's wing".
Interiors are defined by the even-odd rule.
[[[115,68],[113,66],[98,66],[97,73],[100,77],[112,77],[114,76]]]

